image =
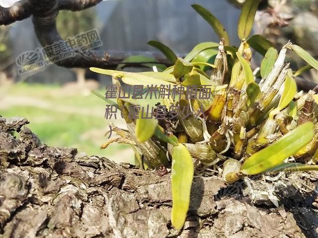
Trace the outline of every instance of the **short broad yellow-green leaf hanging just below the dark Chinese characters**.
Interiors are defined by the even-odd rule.
[[[156,130],[156,127],[158,125],[158,120],[154,118],[142,118],[142,116],[147,117],[144,113],[142,114],[142,110],[140,110],[139,118],[136,119],[136,127],[135,127],[135,135],[137,137],[137,140],[140,143],[146,142],[148,139],[150,139]]]

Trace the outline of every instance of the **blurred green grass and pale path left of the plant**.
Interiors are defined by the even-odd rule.
[[[28,127],[50,146],[76,147],[116,162],[134,161],[129,145],[113,143],[106,150],[99,149],[107,141],[104,134],[110,121],[104,119],[105,102],[89,91],[68,93],[58,86],[17,83],[0,96],[0,115],[27,118]],[[120,115],[112,122],[125,127]]]

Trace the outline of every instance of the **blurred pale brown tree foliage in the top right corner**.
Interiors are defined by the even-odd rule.
[[[240,7],[245,0],[228,0]],[[318,57],[318,0],[261,0],[255,16],[255,34],[261,34],[280,49],[288,40]],[[288,52],[292,68],[305,63]],[[303,78],[318,83],[318,74],[310,70]]]

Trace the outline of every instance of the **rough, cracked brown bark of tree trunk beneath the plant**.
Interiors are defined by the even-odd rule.
[[[307,228],[292,206],[274,208],[268,199],[254,206],[243,182],[202,176],[194,177],[185,226],[175,231],[170,174],[49,147],[27,127],[20,131],[26,123],[0,117],[0,237],[317,237],[312,208],[301,213],[316,214]]]

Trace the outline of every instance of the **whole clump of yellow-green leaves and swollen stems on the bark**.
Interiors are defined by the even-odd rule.
[[[142,118],[149,116],[145,110],[138,112],[136,120],[128,117],[131,105],[146,106],[142,99],[117,97],[113,102],[104,98],[121,110],[128,130],[113,127],[119,137],[102,148],[112,142],[131,144],[143,168],[159,173],[171,168],[171,223],[178,230],[185,222],[193,174],[199,168],[218,167],[228,183],[266,172],[318,170],[317,91],[298,92],[295,82],[305,70],[318,70],[318,62],[291,42],[278,52],[262,36],[249,37],[257,6],[255,0],[243,4],[238,24],[239,47],[231,46],[223,25],[210,11],[194,4],[192,7],[212,26],[220,43],[200,43],[187,56],[178,58],[167,46],[150,41],[171,62],[168,68],[142,56],[126,60],[161,72],[90,69],[112,76],[118,86],[117,95],[123,82],[144,88],[158,85],[161,90],[164,85],[166,91],[193,85],[211,90],[211,96],[204,99],[189,98],[186,93],[177,98],[161,98],[160,105],[166,107],[168,115],[175,105],[181,111],[189,107],[193,112],[186,118],[179,113],[162,120]],[[293,72],[285,62],[288,50],[309,66]],[[264,57],[254,71],[253,51]],[[198,111],[196,117],[194,113]]]

